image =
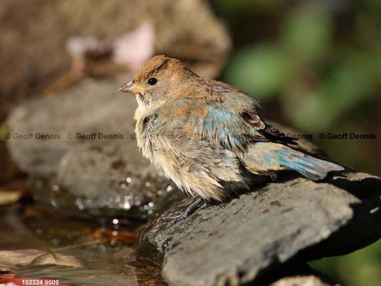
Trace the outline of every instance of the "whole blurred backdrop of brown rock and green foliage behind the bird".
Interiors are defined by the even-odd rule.
[[[333,160],[381,175],[380,0],[78,2],[0,1],[0,122],[86,78],[123,83],[164,53],[259,98],[267,118],[312,135]],[[23,172],[0,144],[6,185]],[[380,285],[381,243],[311,265],[344,286]]]

